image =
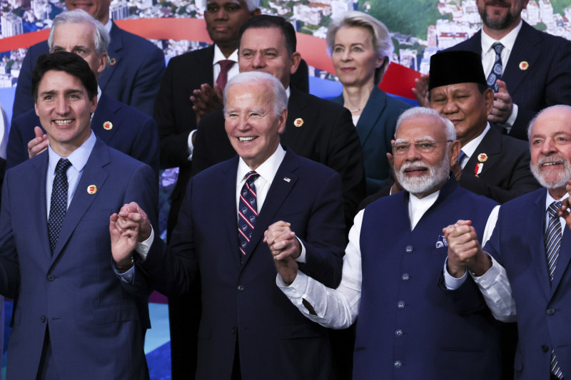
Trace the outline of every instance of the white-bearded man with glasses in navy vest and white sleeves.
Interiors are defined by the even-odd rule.
[[[400,116],[394,171],[405,189],[355,217],[337,289],[271,247],[276,283],[308,319],[349,327],[357,316],[353,379],[500,379],[497,324],[473,279],[446,289],[442,227],[469,218],[480,235],[497,203],[460,188],[450,168],[460,141],[429,108]],[[464,217],[461,217],[463,215]],[[362,301],[362,302],[361,302]]]

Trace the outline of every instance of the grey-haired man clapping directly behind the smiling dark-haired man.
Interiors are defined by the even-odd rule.
[[[84,58],[99,78],[106,67],[109,36],[103,24],[81,10],[59,14],[50,31],[51,51],[68,51]],[[99,89],[100,90],[100,89]],[[91,120],[94,133],[107,145],[153,168],[158,175],[158,132],[152,118],[98,91]],[[6,148],[11,168],[47,148],[47,135],[31,109],[12,122]]]

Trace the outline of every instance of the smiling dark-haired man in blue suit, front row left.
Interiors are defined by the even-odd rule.
[[[156,222],[153,170],[89,128],[97,82],[86,61],[41,56],[32,78],[49,148],[4,178],[0,293],[15,299],[7,377],[148,379],[148,287],[130,263],[113,269],[108,220],[134,201]]]

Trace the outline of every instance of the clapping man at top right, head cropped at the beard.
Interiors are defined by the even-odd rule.
[[[537,112],[555,104],[571,105],[571,41],[522,21],[521,11],[528,1],[502,1],[498,5],[477,0],[482,29],[448,49],[481,54],[489,78],[495,60],[491,45],[502,43],[503,71],[496,81],[498,91],[489,120],[503,124],[510,136],[522,140],[527,140],[527,124]],[[483,46],[486,51],[482,51]]]

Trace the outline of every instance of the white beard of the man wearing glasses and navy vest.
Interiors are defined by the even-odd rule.
[[[407,190],[411,194],[419,194],[435,188],[448,178],[448,174],[450,173],[449,162],[450,158],[447,152],[444,160],[438,166],[430,166],[420,162],[408,163],[404,164],[400,168],[400,171],[395,170],[395,175],[400,185],[403,186],[403,189]],[[407,177],[405,175],[405,170],[410,168],[427,168],[428,175],[423,175],[421,177]]]

